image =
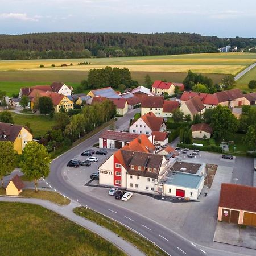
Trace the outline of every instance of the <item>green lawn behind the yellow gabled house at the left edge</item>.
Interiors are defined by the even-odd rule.
[[[15,113],[12,113],[12,115],[16,125],[25,126],[26,123],[30,124],[34,138],[43,136],[48,130],[51,130],[55,123],[54,119],[49,118],[48,115],[23,115]]]

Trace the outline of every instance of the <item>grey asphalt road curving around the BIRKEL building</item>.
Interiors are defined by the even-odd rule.
[[[138,109],[139,110],[139,109]],[[125,117],[118,119],[115,125],[122,127],[127,120],[133,117],[136,110],[131,110]],[[106,128],[108,129],[108,128]],[[123,128],[122,128],[123,129]],[[166,251],[171,256],[175,255],[205,255],[208,254],[203,247],[195,245],[185,238],[172,232],[170,229],[157,223],[157,220],[150,220],[140,214],[134,213],[115,204],[103,201],[94,197],[93,195],[84,194],[77,189],[71,187],[62,175],[63,167],[67,160],[72,159],[73,156],[80,154],[85,148],[91,147],[98,142],[99,133],[93,135],[86,141],[82,142],[72,150],[59,156],[53,160],[51,164],[51,173],[46,179],[57,191],[63,195],[78,200],[82,205],[87,205],[89,208],[96,210],[114,220],[121,222],[123,225],[135,230],[142,236],[146,237],[152,243],[154,242],[162,250]],[[148,210],[148,209],[145,209]],[[216,254],[214,254],[216,255]]]

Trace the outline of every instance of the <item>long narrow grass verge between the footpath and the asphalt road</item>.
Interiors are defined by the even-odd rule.
[[[85,207],[77,207],[73,209],[73,212],[92,222],[96,222],[98,225],[104,226],[104,228],[107,228],[112,232],[118,234],[118,236],[124,238],[130,243],[133,243],[133,245],[137,246],[139,250],[143,251],[143,253],[145,253],[148,256],[166,255],[166,253],[160,250],[159,247],[153,246],[152,243],[146,240],[145,238],[139,236],[129,228],[126,228],[125,226],[118,224],[118,222],[113,221],[100,213],[94,212],[93,210],[88,208],[86,209]]]

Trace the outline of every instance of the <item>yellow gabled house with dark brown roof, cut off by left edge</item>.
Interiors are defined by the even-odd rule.
[[[14,150],[22,154],[22,150],[27,142],[33,140],[33,135],[22,125],[0,122],[0,141],[11,141],[14,144]]]

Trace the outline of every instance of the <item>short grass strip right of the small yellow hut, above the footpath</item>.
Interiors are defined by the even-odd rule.
[[[24,189],[24,191],[20,193],[20,196],[48,200],[59,205],[68,205],[70,203],[70,200],[67,197],[63,197],[59,193],[53,191],[39,190],[38,192],[35,192],[34,189]]]

